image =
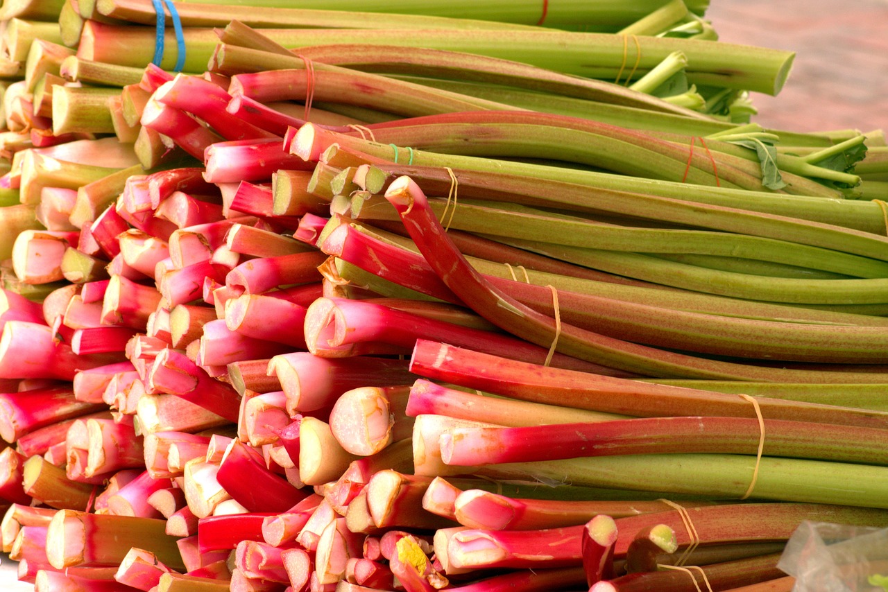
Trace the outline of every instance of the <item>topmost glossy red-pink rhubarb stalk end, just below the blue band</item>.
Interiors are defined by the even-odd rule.
[[[228,140],[277,137],[228,113],[226,107],[231,95],[198,76],[176,75],[155,91],[154,98],[163,105],[201,118]]]

